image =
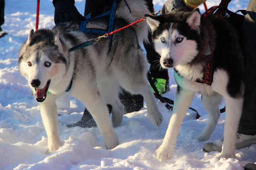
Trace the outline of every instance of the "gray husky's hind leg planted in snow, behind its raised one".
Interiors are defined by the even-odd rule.
[[[111,113],[113,126],[120,126],[124,115],[124,105],[118,98],[119,82],[113,77],[108,77],[104,81],[98,83],[98,86],[100,89],[100,95],[103,97],[106,104],[110,104],[112,106]]]

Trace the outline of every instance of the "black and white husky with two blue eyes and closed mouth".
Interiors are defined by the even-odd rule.
[[[235,158],[236,131],[242,112],[244,92],[244,54],[240,30],[232,18],[213,14],[201,17],[199,9],[177,9],[160,16],[145,15],[152,30],[152,41],[161,55],[164,69],[174,68],[178,84],[171,117],[157,159],[171,158],[182,120],[195,92],[202,94],[202,104],[209,121],[199,141],[209,140],[220,118],[222,98],[226,103],[223,149],[218,158]],[[208,63],[215,64],[211,85],[203,82]],[[211,67],[212,68],[212,67]],[[207,75],[209,76],[209,75]]]

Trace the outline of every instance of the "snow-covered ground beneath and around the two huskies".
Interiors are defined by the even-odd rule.
[[[41,0],[39,28],[54,26],[52,0]],[[220,0],[208,0],[211,7]],[[85,0],[76,1],[80,13],[84,13]],[[164,0],[154,0],[159,10]],[[249,0],[232,0],[229,9],[246,9]],[[200,6],[201,12],[204,7]],[[163,141],[172,112],[158,101],[164,116],[160,128],[148,119],[146,106],[139,112],[124,115],[116,133],[120,145],[107,150],[98,128],[67,128],[80,120],[84,106],[70,97],[70,108],[59,109],[59,133],[63,146],[47,153],[47,135],[42,123],[38,103],[31,95],[28,82],[20,76],[17,54],[30,29],[35,29],[36,0],[5,0],[5,23],[3,30],[9,35],[0,39],[0,169],[35,170],[87,170],[87,169],[243,169],[256,162],[256,144],[236,150],[238,159],[213,159],[218,152],[205,153],[205,143],[223,138],[225,113],[221,114],[217,128],[209,141],[199,142],[191,138],[199,135],[208,121],[208,115],[201,105],[201,96],[196,94],[191,107],[202,116],[196,120],[196,113],[188,110],[181,125],[174,156],[163,163],[156,160],[155,150]],[[170,92],[164,97],[174,99],[176,83],[173,70],[170,73]],[[69,97],[69,96],[68,96]],[[221,105],[224,107],[224,103]]]

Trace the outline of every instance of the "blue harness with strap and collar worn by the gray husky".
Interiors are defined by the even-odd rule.
[[[115,14],[116,14],[116,0],[113,2],[113,5],[112,5],[112,8],[110,11],[107,11],[107,12],[104,12],[103,14],[100,14],[94,18],[91,18],[91,13],[89,13],[85,18],[86,20],[84,21],[81,21],[80,23],[80,26],[79,26],[79,31],[81,32],[84,32],[84,33],[92,33],[92,34],[97,34],[97,35],[104,35],[106,33],[110,33],[112,31],[114,31],[114,18],[115,18]],[[102,30],[102,29],[88,29],[86,28],[86,24],[87,24],[87,21],[89,19],[95,19],[95,18],[100,18],[100,17],[103,17],[103,16],[106,16],[106,15],[109,15],[109,21],[108,21],[108,28],[107,30]],[[110,50],[110,47],[111,47],[111,43],[112,43],[112,35],[108,36],[108,38],[110,38],[110,42],[109,42],[109,50]],[[79,44],[75,47],[72,47],[72,48],[69,48],[69,52],[72,52],[72,51],[75,51],[77,49],[80,49],[80,48],[84,48],[84,47],[87,47],[89,45],[92,45],[94,43],[92,43],[90,40],[89,41],[86,41],[82,44]],[[73,82],[73,76],[72,76],[72,79],[67,87],[67,89],[65,90],[65,92],[69,92],[69,90],[71,89],[71,86],[72,86],[72,82]]]

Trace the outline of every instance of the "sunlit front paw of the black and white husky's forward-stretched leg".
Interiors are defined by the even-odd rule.
[[[174,146],[162,144],[156,150],[156,157],[159,162],[163,162],[165,159],[172,158]]]

